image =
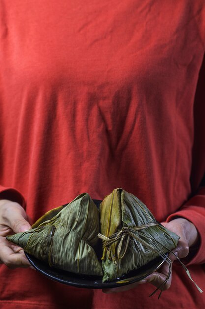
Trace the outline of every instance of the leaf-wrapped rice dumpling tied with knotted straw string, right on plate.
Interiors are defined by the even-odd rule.
[[[176,247],[179,236],[156,222],[148,208],[120,188],[100,205],[103,282],[112,281]]]

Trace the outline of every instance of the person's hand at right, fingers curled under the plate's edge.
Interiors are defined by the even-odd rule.
[[[196,227],[191,223],[190,221],[184,219],[184,218],[176,218],[170,222],[162,222],[162,225],[166,227],[168,230],[176,233],[178,236],[180,236],[180,239],[178,241],[178,245],[175,249],[172,251],[181,259],[185,258],[189,254],[189,248],[194,246],[198,240],[199,235],[197,232]],[[169,258],[172,261],[175,261],[177,258],[173,254],[169,254]],[[113,289],[103,289],[104,293],[118,293],[127,291],[130,289],[133,289],[138,286],[138,284],[143,283],[151,283],[157,288],[164,282],[164,280],[167,277],[169,271],[169,265],[165,262],[163,263],[162,267],[160,267],[157,272],[152,273],[145,279],[130,284],[125,285],[119,288],[113,288]],[[169,289],[172,281],[172,276],[170,275],[169,280],[166,282],[166,284],[163,286],[163,290]]]

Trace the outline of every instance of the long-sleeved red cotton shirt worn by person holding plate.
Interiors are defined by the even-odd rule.
[[[204,53],[204,0],[0,0],[1,198],[35,221],[121,187],[158,221],[196,225],[188,268],[205,290]],[[0,278],[1,309],[205,308],[177,263],[160,300],[151,284],[107,295],[4,265]]]

